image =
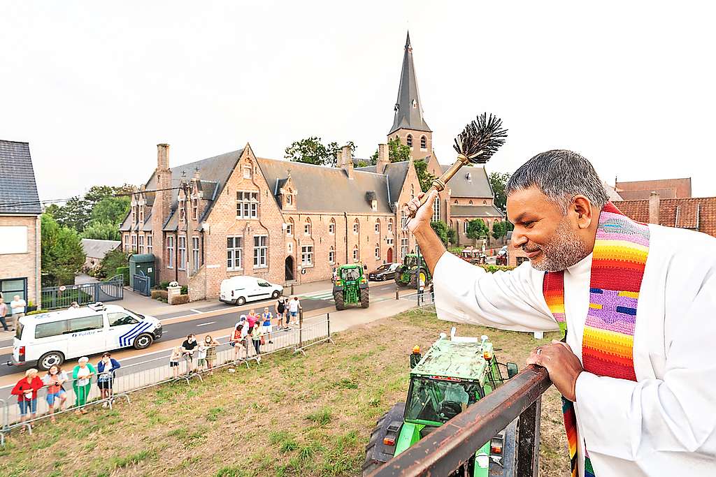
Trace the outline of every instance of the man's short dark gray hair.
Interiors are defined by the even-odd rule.
[[[584,195],[599,209],[609,200],[591,162],[566,149],[541,152],[522,164],[508,180],[505,195],[532,186],[561,207],[564,214],[576,195]]]

